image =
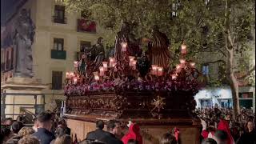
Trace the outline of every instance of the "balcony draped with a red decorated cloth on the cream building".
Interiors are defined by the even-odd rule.
[[[78,32],[96,33],[96,22],[78,19]]]

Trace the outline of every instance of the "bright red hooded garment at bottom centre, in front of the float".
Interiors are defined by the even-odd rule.
[[[137,124],[131,124],[129,127],[129,132],[122,137],[122,142],[124,144],[127,144],[127,142],[130,139],[134,139],[136,141],[138,141],[138,144],[142,144],[142,135],[139,134],[140,128]]]

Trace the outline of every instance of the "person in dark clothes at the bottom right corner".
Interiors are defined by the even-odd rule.
[[[254,130],[254,122],[246,122],[246,132],[238,139],[237,144],[256,144],[256,131]]]

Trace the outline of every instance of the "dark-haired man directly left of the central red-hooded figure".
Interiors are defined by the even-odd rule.
[[[106,130],[109,132],[102,138],[102,142],[106,144],[123,144],[115,135],[121,134],[120,122],[110,120],[106,123]]]

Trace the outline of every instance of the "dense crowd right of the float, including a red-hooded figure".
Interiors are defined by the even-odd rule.
[[[242,108],[234,118],[233,110],[226,108],[198,109],[195,113],[201,119],[201,140],[205,143],[256,144],[255,114]],[[218,138],[223,142],[218,142]],[[210,140],[209,140],[210,139]]]

